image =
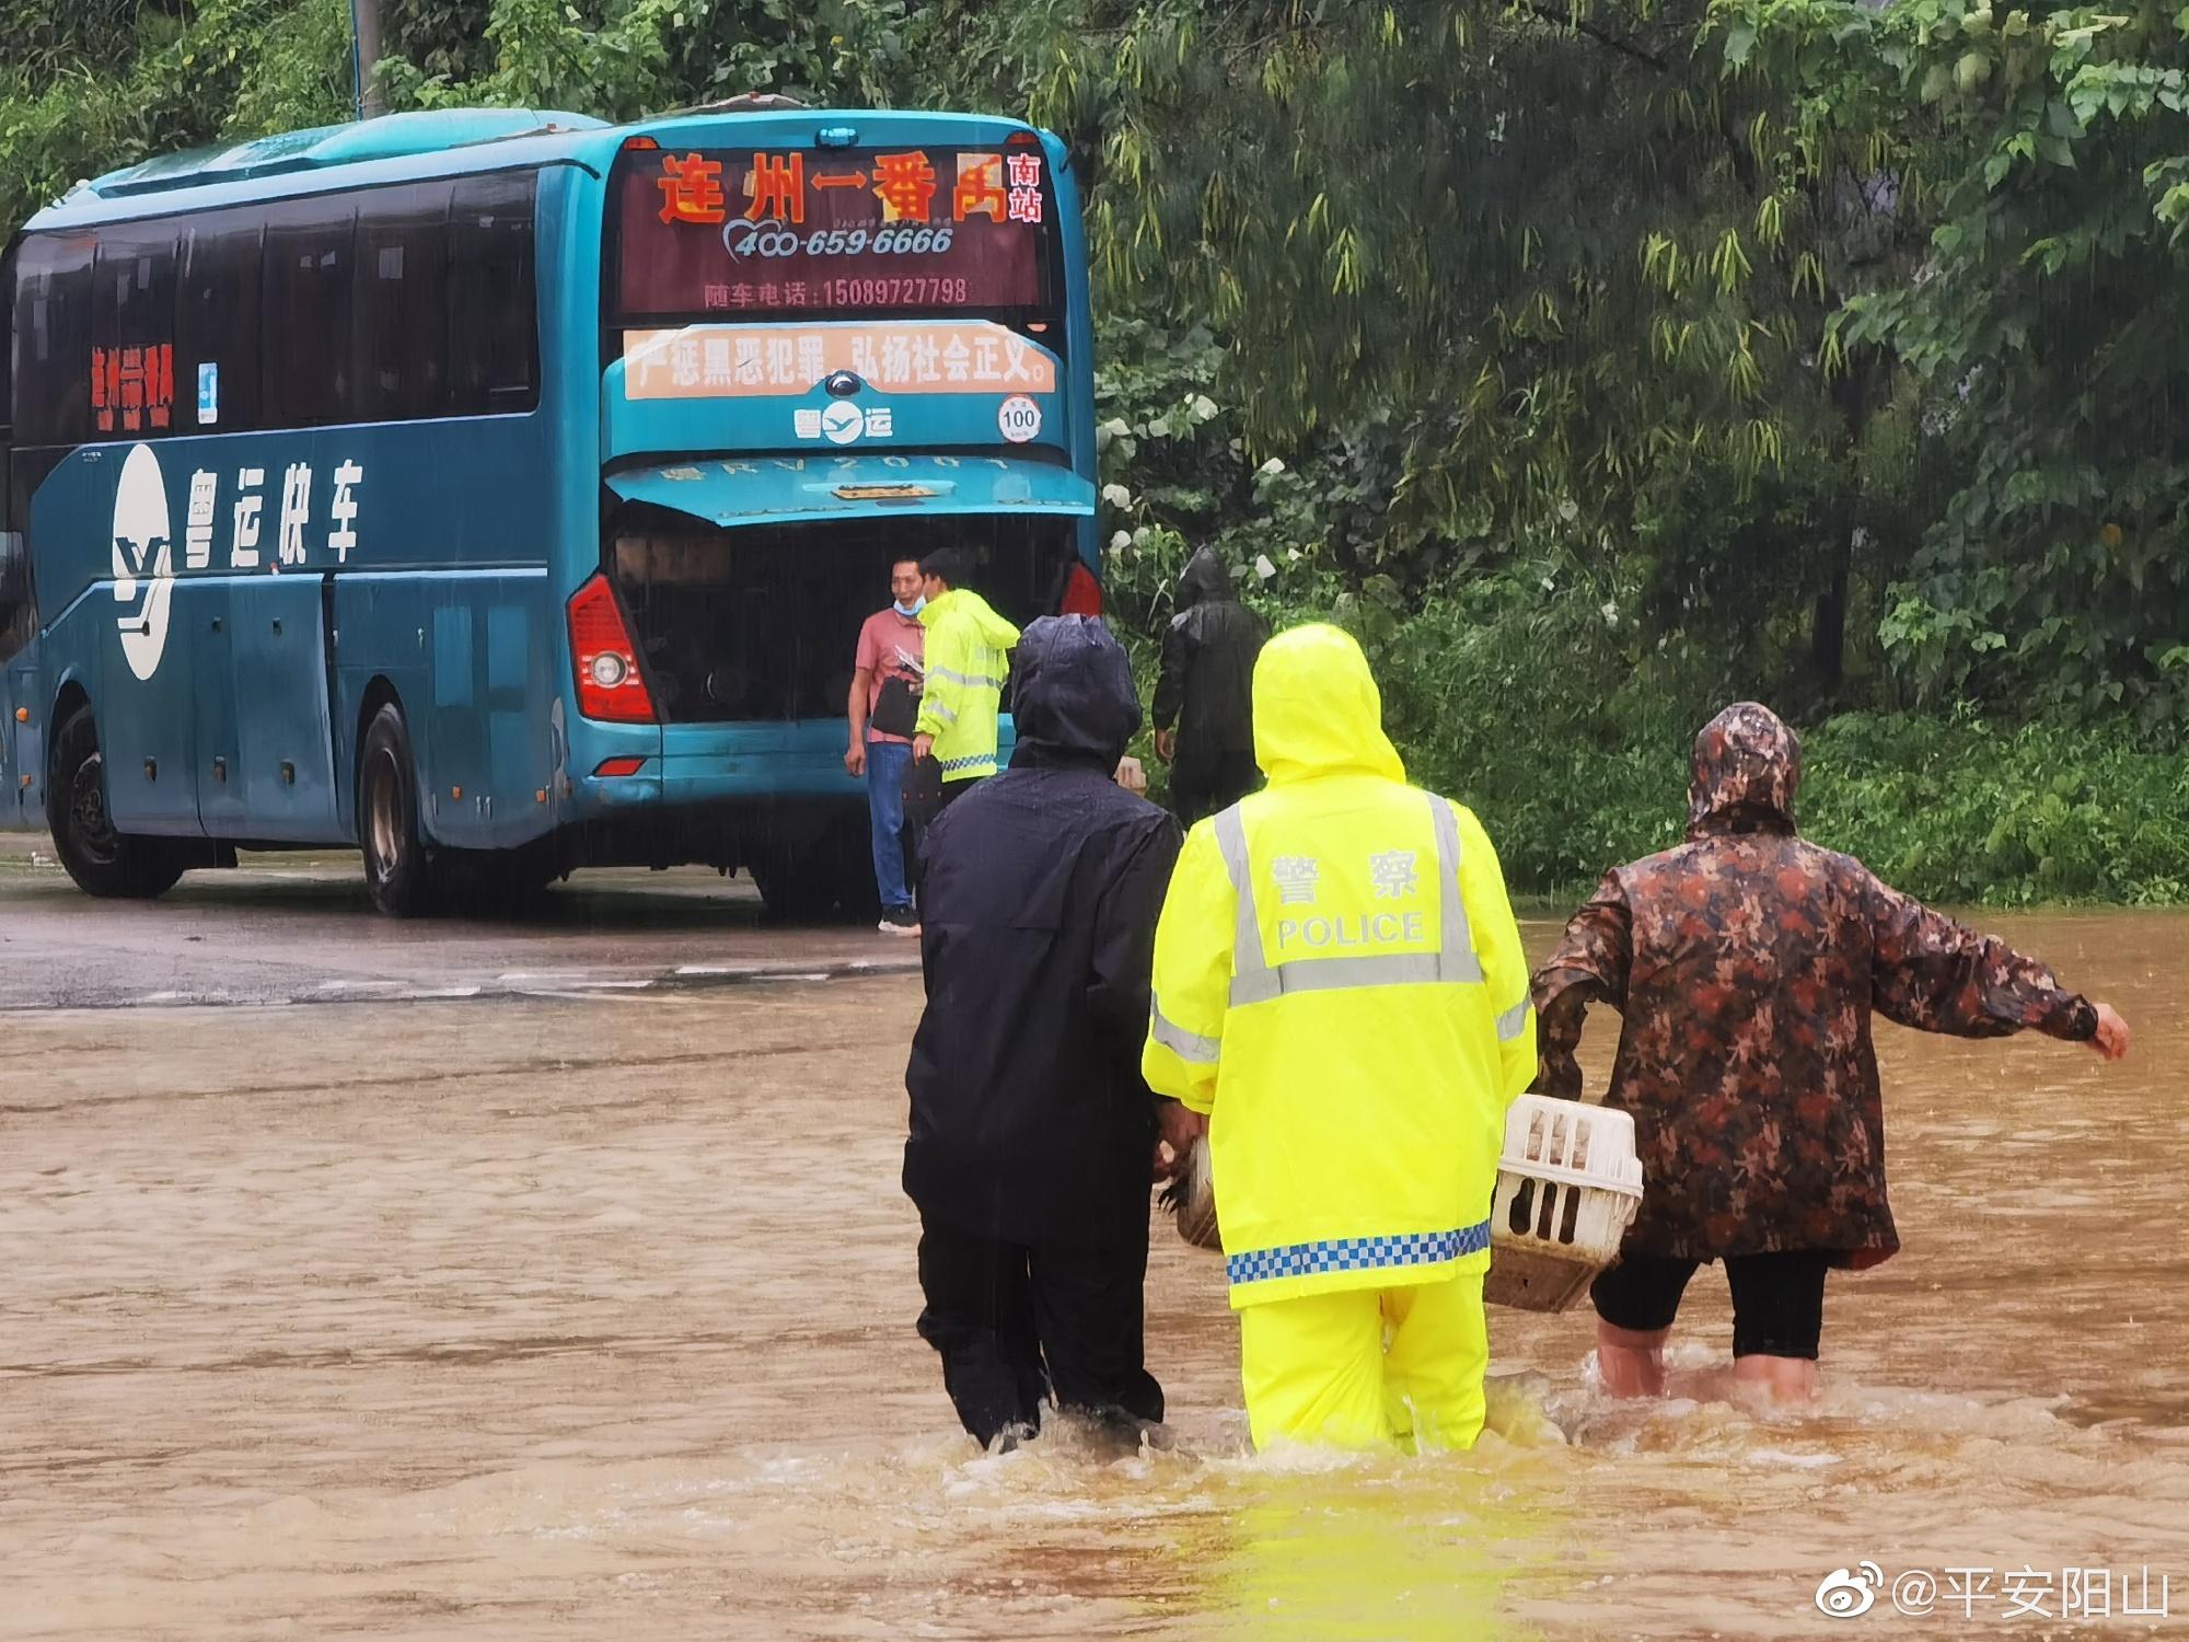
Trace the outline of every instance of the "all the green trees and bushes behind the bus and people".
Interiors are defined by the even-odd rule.
[[[1088,184],[1110,606],[1213,543],[1570,893],[1686,749],[1946,900],[2189,898],[2189,13],[383,0],[390,107],[1031,114]],[[344,118],[348,0],[0,0],[0,228]],[[1160,777],[1158,777],[1160,779]]]

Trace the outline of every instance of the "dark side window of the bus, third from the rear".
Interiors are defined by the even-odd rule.
[[[324,427],[355,414],[350,271],[355,195],[271,206],[265,215],[265,420]]]

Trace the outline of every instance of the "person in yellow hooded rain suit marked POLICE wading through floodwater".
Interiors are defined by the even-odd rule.
[[[1261,652],[1254,760],[1270,786],[1186,834],[1143,1051],[1206,1119],[1254,1445],[1473,1447],[1491,1191],[1534,1077],[1497,852],[1405,784],[1333,626]]]

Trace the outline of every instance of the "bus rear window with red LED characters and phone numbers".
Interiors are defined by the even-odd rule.
[[[1040,147],[626,151],[624,320],[1053,313]]]

